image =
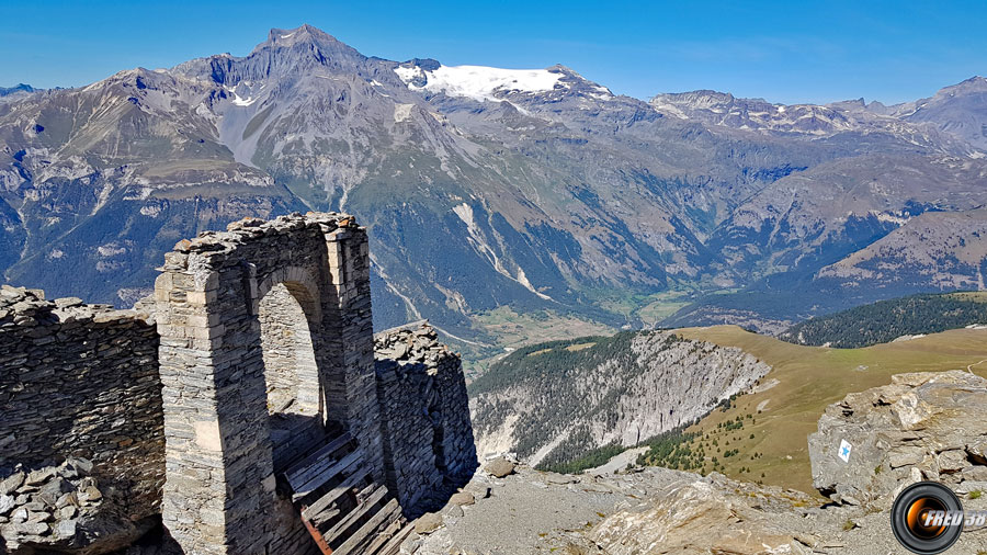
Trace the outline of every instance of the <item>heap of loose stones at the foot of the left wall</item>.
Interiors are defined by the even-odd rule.
[[[135,522],[123,491],[101,486],[93,464],[69,457],[58,466],[18,468],[0,482],[0,539],[10,553],[80,555],[126,547],[151,528]]]

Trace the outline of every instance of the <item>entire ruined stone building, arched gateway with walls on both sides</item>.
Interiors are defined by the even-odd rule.
[[[0,292],[0,480],[86,457],[186,554],[293,554],[317,548],[277,476],[320,438],[349,432],[406,512],[472,474],[457,355],[426,329],[375,361],[352,216],[248,218],[159,270],[139,310]]]

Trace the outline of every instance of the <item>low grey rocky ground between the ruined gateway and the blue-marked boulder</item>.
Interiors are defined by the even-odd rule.
[[[430,513],[402,553],[809,554],[888,553],[886,528],[853,544],[852,508],[821,509],[799,491],[637,467],[602,476],[519,465],[463,488],[474,502]],[[417,524],[417,523],[416,523]],[[882,522],[886,526],[886,518]],[[894,539],[890,539],[894,542]],[[882,551],[883,550],[883,551]]]

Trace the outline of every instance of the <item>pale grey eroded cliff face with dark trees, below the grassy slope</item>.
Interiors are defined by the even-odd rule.
[[[558,463],[688,424],[770,366],[672,332],[619,333],[518,351],[474,385],[477,452]]]

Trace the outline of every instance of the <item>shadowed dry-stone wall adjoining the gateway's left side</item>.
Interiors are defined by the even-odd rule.
[[[0,477],[81,456],[134,520],[159,510],[158,333],[146,313],[0,290]]]

